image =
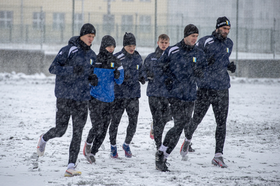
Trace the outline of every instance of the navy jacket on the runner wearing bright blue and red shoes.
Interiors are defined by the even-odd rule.
[[[124,81],[120,85],[115,83],[115,99],[140,98],[140,83],[138,79],[144,76],[142,72],[142,57],[136,50],[133,54],[129,54],[124,48],[120,52],[115,53],[114,56],[120,59],[124,68],[124,75],[130,76],[126,82]]]

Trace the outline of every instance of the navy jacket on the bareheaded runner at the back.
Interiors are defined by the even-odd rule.
[[[147,96],[155,96],[155,97],[163,97],[163,90],[162,87],[165,86],[163,82],[161,82],[158,78],[154,75],[153,66],[157,62],[157,60],[161,57],[164,51],[157,46],[156,51],[150,53],[146,59],[144,60],[143,64],[143,72],[145,75],[152,76],[151,79],[146,78],[148,81],[147,86]]]

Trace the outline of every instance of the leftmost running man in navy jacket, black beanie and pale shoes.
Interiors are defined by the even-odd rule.
[[[57,98],[56,125],[41,135],[37,153],[39,156],[43,156],[47,141],[65,134],[70,116],[72,116],[73,136],[65,176],[82,174],[75,170],[75,163],[80,151],[82,130],[88,113],[89,80],[91,81],[89,77],[93,73],[96,62],[96,54],[91,50],[95,34],[96,30],[93,25],[89,23],[83,25],[80,36],[72,37],[68,46],[60,49],[49,67],[49,72],[56,75],[54,90]]]

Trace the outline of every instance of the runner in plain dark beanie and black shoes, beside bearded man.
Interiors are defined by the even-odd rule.
[[[166,160],[179,141],[184,126],[189,122],[196,99],[196,81],[204,77],[207,61],[195,43],[198,28],[189,24],[184,39],[168,47],[154,65],[155,75],[165,84],[164,95],[170,103],[174,127],[171,128],[156,152],[156,169],[168,171]]]

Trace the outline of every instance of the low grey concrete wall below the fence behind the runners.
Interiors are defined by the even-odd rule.
[[[142,56],[143,61],[146,56]],[[0,50],[0,72],[35,74],[49,73],[49,66],[55,55],[45,55],[44,51]],[[239,60],[237,77],[280,78],[280,60]]]

